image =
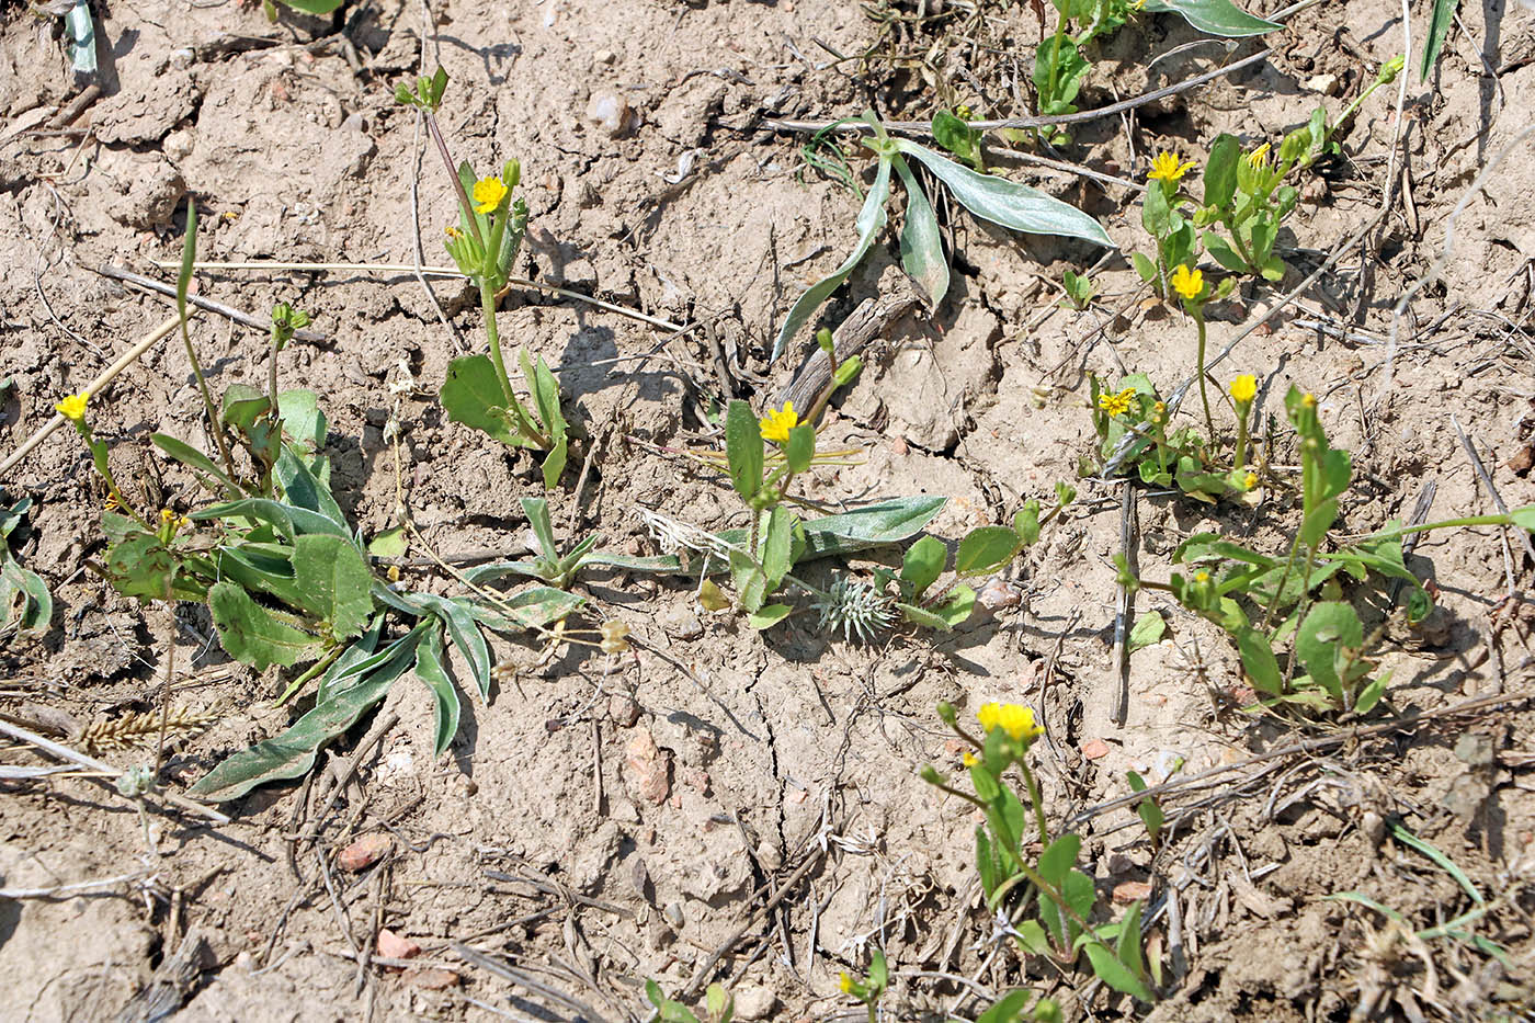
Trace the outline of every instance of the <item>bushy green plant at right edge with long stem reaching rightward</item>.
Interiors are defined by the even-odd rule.
[[[1345,582],[1363,585],[1372,576],[1409,582],[1405,616],[1415,624],[1432,610],[1432,601],[1403,564],[1403,536],[1463,525],[1535,530],[1535,505],[1417,527],[1388,524],[1354,542],[1334,541],[1329,530],[1349,488],[1352,461],[1348,452],[1328,444],[1315,396],[1291,387],[1285,409],[1300,449],[1302,499],[1300,525],[1288,553],[1276,556],[1219,533],[1196,533],[1173,555],[1188,574],[1174,571],[1167,584],[1136,579],[1119,556],[1119,581],[1130,588],[1165,590],[1230,633],[1243,673],[1265,705],[1366,714],[1389,680],[1389,673],[1375,674],[1369,659],[1386,624],[1366,636],[1358,610],[1345,599]],[[1392,611],[1383,608],[1388,621]]]

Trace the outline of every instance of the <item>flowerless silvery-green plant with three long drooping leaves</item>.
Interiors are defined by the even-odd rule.
[[[901,266],[906,267],[912,280],[921,284],[927,300],[935,307],[944,300],[949,292],[949,258],[944,255],[933,204],[918,184],[916,175],[912,174],[912,167],[906,161],[907,157],[926,166],[961,206],[982,220],[1035,235],[1084,238],[1101,246],[1114,244],[1096,220],[1073,206],[1025,184],[992,174],[978,174],[906,138],[892,138],[873,111],[864,111],[863,120],[873,129],[873,138],[864,138],[863,144],[878,157],[878,166],[873,186],[864,197],[863,209],[858,210],[858,244],[837,270],[806,289],[789,309],[789,315],[784,316],[783,327],[778,330],[778,339],[774,343],[774,361],[800,332],[800,327],[832,296],[832,292],[841,287],[843,281],[869,253],[875,237],[886,224],[884,204],[890,197],[892,174],[906,187]],[[949,131],[953,124],[942,123],[947,124],[944,137],[955,141],[955,132]]]

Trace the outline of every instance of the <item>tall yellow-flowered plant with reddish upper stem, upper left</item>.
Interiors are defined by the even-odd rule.
[[[499,175],[485,178],[476,178],[468,163],[454,167],[436,117],[447,84],[447,72],[437,68],[436,75],[418,78],[414,91],[404,83],[394,89],[396,103],[424,115],[427,131],[453,180],[459,200],[459,226],[447,229],[444,246],[479,290],[485,338],[490,343],[488,356],[468,355],[448,364],[439,398],[454,422],[474,427],[510,447],[543,452],[543,485],[550,488],[565,472],[568,458],[568,425],[560,413],[560,389],[542,356],[530,363],[527,352],[519,350],[522,378],[533,395],[533,407],[523,406],[511,387],[496,327],[496,303],[507,287],[528,229],[527,201],[511,198],[522,180],[522,164],[508,160]]]

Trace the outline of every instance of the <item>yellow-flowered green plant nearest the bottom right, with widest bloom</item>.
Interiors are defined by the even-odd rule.
[[[1094,923],[1098,891],[1093,879],[1076,869],[1082,839],[1050,834],[1044,799],[1028,766],[1028,748],[1044,734],[1033,710],[985,704],[976,713],[979,739],[958,723],[952,705],[939,704],[938,716],[972,748],[964,760],[973,794],[956,788],[932,765],[923,768],[923,779],[985,816],[975,829],[975,860],[987,909],[1005,914],[1022,952],[1045,955],[1061,969],[1071,969],[1085,952],[1105,985],[1154,1001],[1159,966],[1147,963],[1142,954],[1141,903],[1113,923]],[[1042,849],[1038,859],[1025,851],[1035,840]]]

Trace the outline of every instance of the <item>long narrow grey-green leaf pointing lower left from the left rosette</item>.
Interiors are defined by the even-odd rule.
[[[321,691],[325,696],[287,731],[233,754],[198,779],[187,793],[198,799],[223,802],[239,799],[256,785],[298,777],[309,771],[315,765],[319,747],[352,728],[364,711],[388,694],[394,680],[410,667],[410,657],[424,631],[418,627],[382,654],[368,657],[373,667],[352,685],[328,690],[322,685]],[[345,656],[342,654],[342,659]]]

